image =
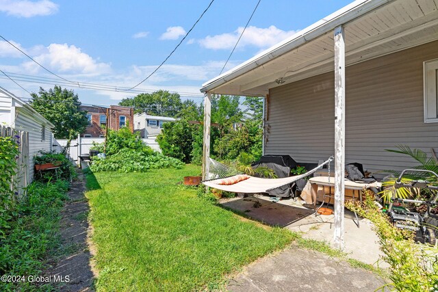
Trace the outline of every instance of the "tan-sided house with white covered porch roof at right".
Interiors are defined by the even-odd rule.
[[[437,152],[437,5],[355,1],[211,79],[201,92],[207,98],[263,96],[266,155],[325,160],[335,154],[335,122],[344,119],[345,130],[338,132],[346,163],[362,163],[371,172],[409,168],[415,161],[385,149]],[[345,86],[335,85],[335,75]],[[335,118],[342,90],[346,105],[337,107]]]

